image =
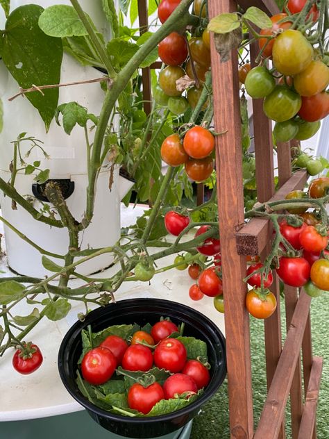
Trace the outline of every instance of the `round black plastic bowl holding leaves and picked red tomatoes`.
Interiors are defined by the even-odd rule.
[[[203,395],[181,410],[153,417],[115,415],[88,401],[76,385],[77,363],[82,351],[81,330],[89,324],[93,332],[115,324],[155,324],[161,316],[170,317],[176,324],[184,322],[185,336],[199,338],[207,343],[211,379]],[[84,322],[76,322],[69,329],[60,345],[58,369],[60,378],[71,396],[87,409],[98,424],[120,436],[154,438],[176,431],[187,424],[221,386],[226,376],[225,338],[214,322],[189,306],[162,299],[121,300],[116,304],[97,308],[87,315]]]

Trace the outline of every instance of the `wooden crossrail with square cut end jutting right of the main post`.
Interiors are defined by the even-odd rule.
[[[303,189],[307,181],[306,171],[295,172],[290,179],[282,185],[268,202],[285,199],[287,193],[296,189]],[[269,242],[271,224],[268,219],[253,218],[236,234],[237,253],[239,255],[259,255]]]

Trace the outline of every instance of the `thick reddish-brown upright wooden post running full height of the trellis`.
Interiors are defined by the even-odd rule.
[[[233,0],[208,0],[211,17],[234,12]],[[219,229],[225,290],[225,328],[228,364],[228,397],[230,437],[253,437],[253,398],[251,391],[251,358],[249,317],[245,303],[246,259],[237,255],[235,232],[244,224],[242,184],[242,142],[239,111],[239,78],[237,53],[221,63],[211,36],[214,126],[227,133],[216,138],[217,194]]]

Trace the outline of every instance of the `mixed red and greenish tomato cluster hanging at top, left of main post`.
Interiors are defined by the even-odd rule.
[[[179,3],[180,0],[160,1],[158,7],[160,22],[164,23]],[[200,15],[201,7],[202,2],[195,0],[194,13],[196,15]],[[205,16],[205,8],[202,10],[202,16]],[[153,97],[156,103],[167,106],[174,115],[182,115],[187,108],[195,108],[201,96],[205,73],[210,69],[210,34],[205,30],[201,36],[192,36],[187,40],[185,33],[172,32],[160,42],[158,51],[160,59],[167,67],[160,72],[158,85],[153,90]],[[191,53],[192,59],[187,58],[188,53]],[[187,90],[186,97],[182,96],[183,90],[178,90],[176,83],[185,75],[192,80],[196,77],[199,79],[199,84]]]

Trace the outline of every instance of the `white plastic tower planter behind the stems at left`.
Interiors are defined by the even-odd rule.
[[[12,0],[11,10],[25,4],[23,0]],[[71,4],[69,0],[37,0],[37,3],[44,8],[53,4]],[[106,19],[101,10],[101,2],[81,0],[81,6],[94,20],[96,26],[106,31]],[[3,28],[4,16],[1,17]],[[74,59],[64,54],[62,60],[61,83],[71,81],[86,81],[99,78],[101,73],[92,67],[82,67]],[[17,138],[19,133],[26,131],[28,135],[34,136],[44,142],[44,150],[51,156],[46,160],[40,149],[33,149],[31,156],[26,161],[33,163],[40,160],[42,169],[50,169],[50,179],[71,179],[74,181],[74,192],[67,199],[67,205],[76,219],[80,220],[85,212],[86,188],[87,188],[87,160],[85,135],[80,126],[76,126],[71,135],[65,134],[61,126],[53,120],[49,132],[46,134],[42,119],[37,110],[25,97],[18,97],[9,102],[8,98],[17,93],[19,86],[14,78],[8,73],[6,67],[0,62],[0,97],[3,101],[3,131],[0,134],[0,176],[6,181],[10,180],[8,170],[12,160],[13,145],[10,143]],[[104,93],[99,83],[74,85],[59,89],[59,101],[65,103],[77,101],[88,109],[89,113],[99,115]],[[93,131],[94,132],[94,131]],[[90,133],[90,142],[93,140],[93,133]],[[21,144],[22,156],[30,149],[28,142]],[[15,188],[22,195],[33,195],[32,184],[35,175],[18,174]],[[88,247],[98,248],[115,244],[120,233],[120,200],[130,189],[133,183],[129,182],[128,187],[120,190],[119,169],[115,169],[115,179],[111,190],[108,188],[110,170],[104,169],[99,174],[96,188],[96,200],[92,224],[80,235],[81,249]],[[124,180],[124,179],[123,179]],[[35,221],[19,206],[12,210],[11,201],[8,197],[0,194],[2,215],[10,224],[24,233],[28,238],[40,247],[53,253],[65,254],[68,247],[67,229],[51,228],[47,224]],[[35,201],[35,208],[40,208],[39,201]],[[47,270],[42,267],[41,256],[37,250],[24,242],[13,231],[5,226],[6,246],[8,263],[10,267],[20,274],[30,276],[44,276]],[[60,263],[57,259],[55,262]],[[110,254],[94,258],[87,263],[80,265],[81,274],[91,274],[105,267],[112,262]]]

